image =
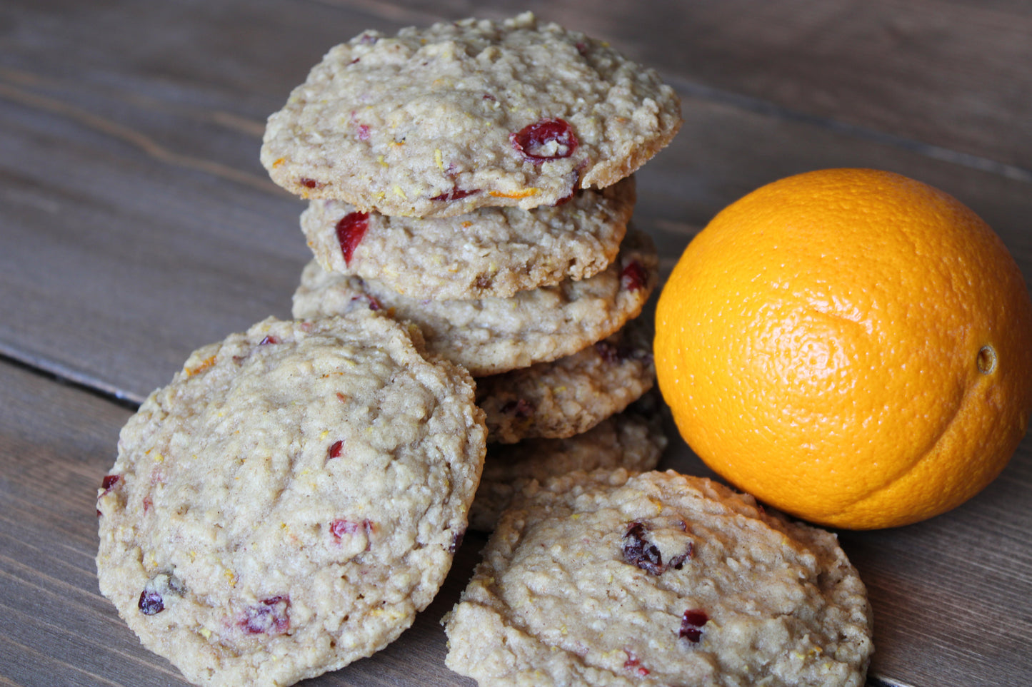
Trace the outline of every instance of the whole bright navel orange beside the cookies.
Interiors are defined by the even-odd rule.
[[[1032,302],[1003,242],[920,182],[827,169],[765,186],[688,244],[656,309],[659,388],[716,472],[869,529],[967,500],[1032,408]]]

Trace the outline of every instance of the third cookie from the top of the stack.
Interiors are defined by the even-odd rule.
[[[638,317],[657,281],[655,246],[630,230],[616,259],[594,276],[511,298],[411,298],[379,282],[330,274],[313,260],[294,292],[293,313],[314,319],[385,308],[417,324],[428,351],[486,377],[556,360],[609,336]]]

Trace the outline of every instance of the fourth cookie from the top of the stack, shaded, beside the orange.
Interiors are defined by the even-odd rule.
[[[477,378],[487,440],[565,438],[585,432],[652,388],[655,367],[644,326],[617,333],[552,362]]]

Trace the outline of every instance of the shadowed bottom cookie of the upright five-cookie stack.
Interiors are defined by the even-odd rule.
[[[651,392],[574,436],[488,444],[484,472],[470,509],[470,527],[494,529],[513,496],[531,480],[544,482],[574,470],[654,468],[667,448],[660,403]]]

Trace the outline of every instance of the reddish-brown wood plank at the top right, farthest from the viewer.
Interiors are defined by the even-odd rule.
[[[369,3],[335,0],[337,5]],[[698,94],[745,94],[1032,174],[1032,7],[977,0],[376,3],[385,19],[540,17],[610,39]],[[998,163],[998,164],[994,164]]]

